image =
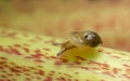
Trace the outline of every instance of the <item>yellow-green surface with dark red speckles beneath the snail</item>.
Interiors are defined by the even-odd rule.
[[[56,56],[60,48],[51,43],[54,40],[63,41],[1,28],[0,81],[130,80],[130,53],[99,48],[94,55],[60,58]]]

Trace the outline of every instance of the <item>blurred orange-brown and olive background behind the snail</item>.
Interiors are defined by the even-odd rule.
[[[130,52],[129,0],[0,0],[0,26],[61,38],[93,30],[104,46]]]

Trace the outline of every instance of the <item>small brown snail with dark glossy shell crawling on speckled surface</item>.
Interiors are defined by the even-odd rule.
[[[68,41],[64,43],[54,43],[61,45],[61,51],[57,53],[57,56],[61,56],[65,51],[72,50],[74,48],[96,48],[102,42],[101,37],[94,31],[74,31],[69,33]]]

